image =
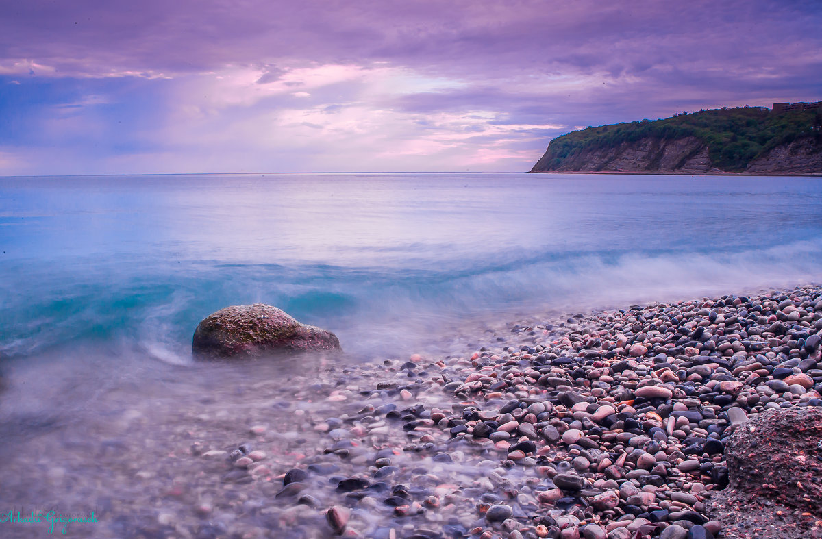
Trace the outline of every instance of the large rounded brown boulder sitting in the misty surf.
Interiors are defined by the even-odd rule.
[[[339,349],[339,339],[330,331],[300,324],[262,303],[225,307],[207,316],[197,325],[192,343],[192,352],[200,359]]]

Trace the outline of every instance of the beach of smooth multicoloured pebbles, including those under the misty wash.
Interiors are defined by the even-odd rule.
[[[517,320],[443,357],[225,367],[61,463],[65,430],[28,440],[3,495],[84,500],[99,522],[69,537],[820,537],[789,507],[739,527],[711,505],[733,431],[822,406],[820,333],[807,286]]]

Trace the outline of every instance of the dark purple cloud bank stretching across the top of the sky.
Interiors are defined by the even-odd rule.
[[[815,2],[762,0],[30,0],[0,30],[5,58],[84,75],[391,62],[459,77],[618,76],[658,65],[791,62],[820,50],[807,43],[819,44],[819,22]]]

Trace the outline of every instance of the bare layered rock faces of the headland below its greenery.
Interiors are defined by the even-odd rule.
[[[725,171],[713,166],[707,145],[694,136],[686,136],[644,137],[610,148],[580,148],[564,157],[556,155],[548,145],[531,172],[715,174]],[[751,161],[744,173],[822,173],[822,145],[811,138],[778,145]]]

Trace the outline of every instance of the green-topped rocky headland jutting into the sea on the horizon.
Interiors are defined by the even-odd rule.
[[[531,172],[820,174],[822,114],[730,108],[557,137]]]

